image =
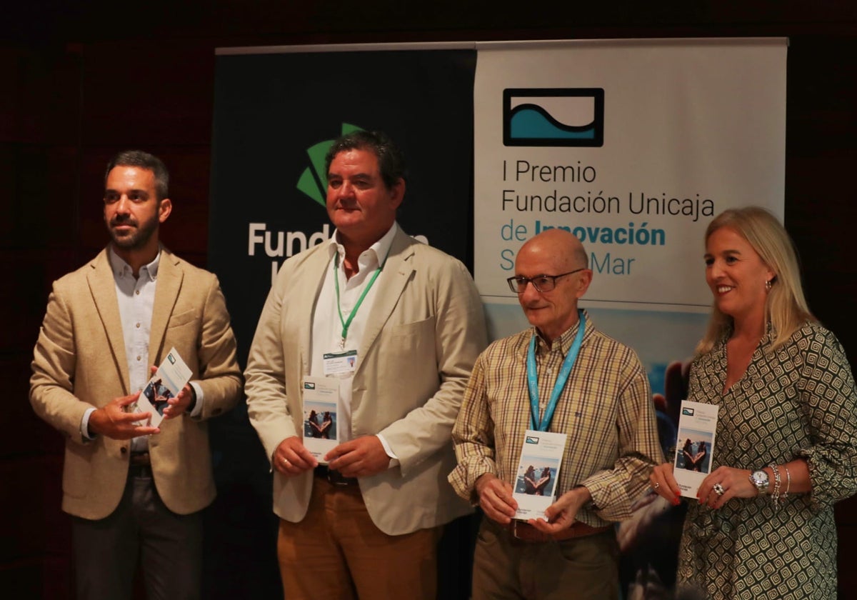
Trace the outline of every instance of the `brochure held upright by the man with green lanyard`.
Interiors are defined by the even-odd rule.
[[[334,377],[303,380],[303,446],[321,465],[327,465],[324,455],[339,445],[339,381]]]

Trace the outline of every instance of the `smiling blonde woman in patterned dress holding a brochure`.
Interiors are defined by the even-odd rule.
[[[836,598],[833,503],[857,490],[857,390],[806,306],[793,244],[758,207],[705,231],[710,325],[688,399],[720,406],[712,470],[691,501],[678,581],[710,598]],[[652,488],[673,501],[673,467]]]

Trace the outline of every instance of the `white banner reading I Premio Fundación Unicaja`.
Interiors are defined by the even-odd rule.
[[[710,219],[748,204],[782,219],[786,40],[477,50],[474,267],[493,335],[526,327],[505,281],[521,244],[564,227],[595,273],[582,306],[609,309],[598,327],[650,366],[689,355]]]

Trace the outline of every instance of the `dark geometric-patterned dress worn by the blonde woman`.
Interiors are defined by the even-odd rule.
[[[842,345],[818,323],[776,350],[772,337],[726,393],[726,340],[698,357],[688,399],[720,405],[712,471],[802,458],[812,492],[789,494],[779,510],[770,495],[717,511],[691,501],[678,579],[704,597],[836,598],[833,503],[857,491],[857,389]]]

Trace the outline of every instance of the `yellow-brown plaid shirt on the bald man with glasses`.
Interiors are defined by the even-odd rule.
[[[556,497],[584,485],[591,505],[578,512],[587,525],[631,516],[631,505],[663,461],[649,381],[634,351],[596,331],[586,316],[584,339],[548,431],[568,435]],[[536,367],[544,411],[578,324],[548,345],[539,336]],[[499,339],[476,360],[452,429],[458,466],[449,482],[476,504],[476,479],[494,473],[515,484],[524,431],[530,423],[526,357],[535,327]]]

